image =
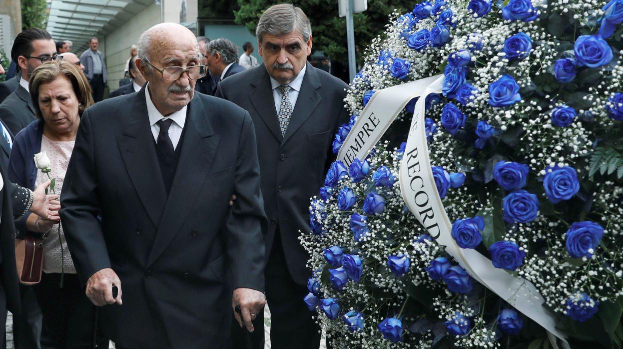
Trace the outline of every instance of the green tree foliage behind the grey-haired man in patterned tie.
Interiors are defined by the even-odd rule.
[[[283,1],[277,0],[238,0],[239,11],[235,11],[235,22],[244,24],[252,34],[265,9]],[[397,9],[404,13],[411,11],[416,1],[407,0],[368,0],[368,11],[354,14],[353,27],[355,50],[362,62],[364,50],[374,37],[384,32],[388,14]],[[313,49],[322,50],[331,59],[346,62],[348,47],[346,43],[346,17],[339,17],[338,2],[335,0],[306,0],[293,2],[301,7],[312,22]]]

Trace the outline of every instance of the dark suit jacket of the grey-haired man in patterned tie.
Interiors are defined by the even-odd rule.
[[[346,87],[308,63],[283,137],[264,65],[223,80],[217,89],[217,97],[245,108],[253,118],[264,207],[270,219],[265,237],[267,258],[278,224],[288,270],[302,285],[311,272],[305,267],[309,256],[298,241],[298,231],[310,231],[310,198],[318,194],[328,165],[335,160],[331,151],[335,131],[348,122],[343,107]]]

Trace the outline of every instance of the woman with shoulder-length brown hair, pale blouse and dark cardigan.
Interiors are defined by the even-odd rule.
[[[62,194],[65,171],[74,150],[80,115],[93,104],[87,78],[75,64],[62,61],[40,65],[32,72],[31,98],[38,120],[15,138],[9,159],[9,179],[25,188],[48,180],[34,160],[45,153],[55,178],[55,193]],[[93,307],[76,275],[62,226],[36,214],[16,221],[26,234],[43,234],[44,265],[41,282],[34,286],[54,349],[92,348]],[[100,348],[107,347],[102,338]],[[103,345],[105,347],[103,347]]]

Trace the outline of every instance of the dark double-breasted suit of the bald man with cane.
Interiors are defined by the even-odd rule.
[[[145,93],[82,115],[61,194],[67,244],[82,282],[107,267],[120,277],[123,305],[100,310],[120,347],[221,348],[232,289],[264,290],[253,123],[233,103],[195,93],[167,197]]]

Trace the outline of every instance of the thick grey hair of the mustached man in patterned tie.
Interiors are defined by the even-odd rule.
[[[298,31],[305,42],[312,36],[312,25],[300,7],[293,4],[278,4],[269,7],[255,27],[255,36],[262,43],[264,34],[274,36]]]

